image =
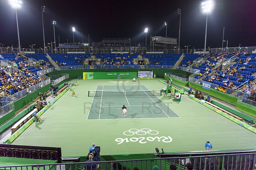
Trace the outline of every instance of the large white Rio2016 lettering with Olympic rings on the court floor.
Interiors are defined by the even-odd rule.
[[[127,130],[127,131],[124,131],[124,135],[126,136],[143,136],[143,135],[157,135],[159,132],[156,131],[156,130],[151,130],[151,129],[148,129],[148,128],[142,128],[142,129],[130,129],[130,130]],[[139,143],[147,143],[148,141],[151,142],[151,141],[154,141],[155,139],[157,139],[158,142],[164,142],[164,143],[169,143],[169,142],[172,142],[172,138],[170,136],[161,136],[161,137],[158,137],[158,136],[154,136],[154,137],[131,137],[130,139],[128,139],[127,137],[126,138],[116,138],[116,142],[119,142],[117,143],[118,145],[123,143],[124,141],[127,142],[138,142]]]

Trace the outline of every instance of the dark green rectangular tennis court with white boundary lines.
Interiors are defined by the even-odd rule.
[[[93,100],[87,120],[180,118],[171,105],[158,98],[161,90],[149,90],[144,85],[98,85],[88,96]],[[127,107],[126,117],[118,110],[123,105]]]

